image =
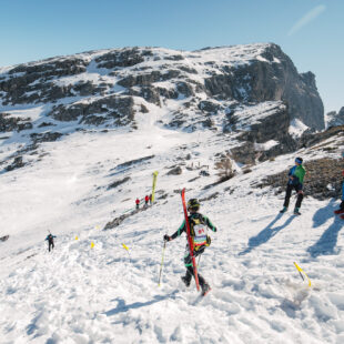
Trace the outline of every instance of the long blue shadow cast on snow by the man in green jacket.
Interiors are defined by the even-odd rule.
[[[283,216],[283,214],[279,213],[277,216],[272,220],[264,230],[262,230],[257,235],[249,239],[247,249],[240,252],[239,255],[244,255],[250,253],[253,249],[266,243],[270,239],[275,236],[280,231],[285,229],[291,224],[291,222],[295,219],[295,215],[290,216],[282,225],[273,227],[273,225]]]

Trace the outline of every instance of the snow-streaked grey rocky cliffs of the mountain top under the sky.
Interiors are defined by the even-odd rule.
[[[0,69],[0,132],[31,146],[58,140],[61,125],[135,130],[146,113],[161,127],[233,135],[243,161],[294,150],[292,120],[324,128],[314,74],[300,74],[275,44],[124,48]]]

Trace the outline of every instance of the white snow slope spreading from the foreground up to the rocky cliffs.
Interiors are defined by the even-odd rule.
[[[142,131],[133,133],[75,133],[45,143],[45,159],[0,175],[7,195],[0,204],[1,233],[10,234],[0,243],[1,343],[343,343],[343,221],[333,216],[337,202],[306,198],[302,216],[281,215],[283,194],[251,186],[284,170],[294,155],[204,191],[216,180],[214,153],[230,143],[206,132],[200,139],[200,133],[152,129],[155,119],[142,117]],[[183,144],[186,150],[178,149]],[[168,176],[166,168],[186,153],[195,164],[210,165],[213,176],[188,183],[200,170],[185,169]],[[111,176],[118,164],[151,154],[151,161]],[[302,154],[307,159],[314,152]],[[159,199],[158,193],[152,208],[102,231],[136,196],[150,192],[155,170],[158,191],[169,196]],[[130,183],[107,190],[125,175]],[[183,220],[174,192],[182,186],[188,199],[219,192],[201,208],[219,229],[210,233],[212,244],[200,262],[200,273],[212,286],[204,299],[194,283],[186,289],[180,280],[183,236],[168,243],[158,286],[162,236]],[[58,235],[52,253],[43,242],[47,230]],[[312,287],[293,262],[307,273]]]

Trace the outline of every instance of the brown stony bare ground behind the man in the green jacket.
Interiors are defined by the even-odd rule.
[[[304,191],[306,196],[317,200],[340,198],[342,194],[342,160],[318,159],[304,163],[306,175],[304,179]],[[267,175],[255,188],[271,186],[276,189],[276,194],[285,191],[289,170],[277,174]]]

